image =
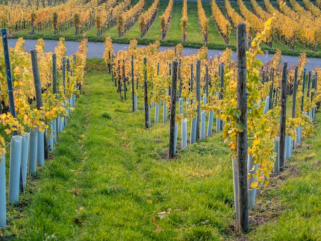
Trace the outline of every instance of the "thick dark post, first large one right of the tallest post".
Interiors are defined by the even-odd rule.
[[[283,64],[282,82],[281,82],[281,112],[280,112],[280,167],[284,166],[285,149],[285,129],[287,119],[287,62]]]

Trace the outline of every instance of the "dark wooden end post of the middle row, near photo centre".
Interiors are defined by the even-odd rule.
[[[169,158],[174,157],[175,144],[175,111],[176,111],[176,86],[177,86],[177,61],[173,62],[172,87],[171,87],[171,117],[169,131]]]

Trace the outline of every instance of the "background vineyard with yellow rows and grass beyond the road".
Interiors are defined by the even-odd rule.
[[[114,43],[129,43],[135,38],[138,44],[159,40],[161,45],[182,43],[185,47],[199,48],[206,44],[209,49],[229,46],[235,50],[235,27],[239,21],[247,23],[250,42],[257,31],[263,30],[264,21],[275,13],[271,38],[263,44],[263,49],[273,53],[278,48],[288,55],[306,51],[307,56],[321,56],[321,33],[314,24],[321,20],[319,1],[306,0],[302,5],[288,1],[282,8],[279,1],[252,0],[251,4],[240,0],[198,1],[200,4],[193,1],[187,2],[184,17],[185,1],[156,1],[155,4],[151,0],[0,2],[4,12],[0,24],[10,29],[14,37],[58,39],[65,36],[66,40],[79,40],[85,34],[89,41],[96,42],[110,36]]]

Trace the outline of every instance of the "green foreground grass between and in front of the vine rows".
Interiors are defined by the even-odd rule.
[[[143,111],[131,112],[131,101],[119,98],[105,71],[102,59],[89,59],[83,96],[54,158],[28,177],[0,234],[18,240],[234,239],[231,157],[222,134],[164,159],[168,122],[145,129]],[[321,235],[320,117],[315,135],[258,196],[245,235],[250,240]]]

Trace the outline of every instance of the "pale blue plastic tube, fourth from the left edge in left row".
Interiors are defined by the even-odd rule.
[[[38,129],[30,130],[28,175],[35,176],[37,170]]]

